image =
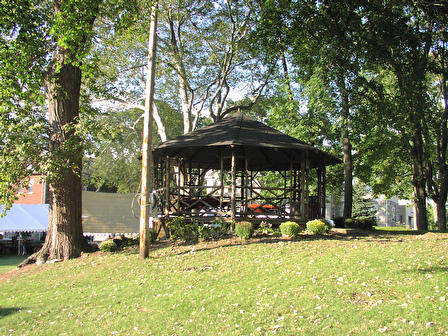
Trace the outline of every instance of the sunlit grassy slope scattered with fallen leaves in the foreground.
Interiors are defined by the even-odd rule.
[[[448,234],[96,253],[0,282],[1,335],[441,335]]]

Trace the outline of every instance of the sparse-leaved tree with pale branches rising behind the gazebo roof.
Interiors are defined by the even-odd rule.
[[[142,69],[147,46],[140,36],[148,25],[148,13],[142,11],[141,16],[141,21],[120,34],[107,25],[102,27],[95,57],[103,66],[91,88],[102,100],[118,103],[123,109],[143,111]],[[248,33],[254,26],[255,9],[251,1],[160,3],[154,121],[162,141],[168,138],[168,127],[167,119],[159,113],[158,102],[163,101],[182,113],[184,133],[197,127],[201,113],[206,110],[216,121],[254,104],[269,73],[249,46]],[[246,93],[249,98],[246,105],[229,105],[229,95],[235,89]]]

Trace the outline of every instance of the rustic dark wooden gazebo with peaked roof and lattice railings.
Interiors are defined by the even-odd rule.
[[[326,166],[341,162],[242,113],[163,142],[153,158],[165,220],[257,223],[324,217]],[[273,182],[262,183],[266,178]]]

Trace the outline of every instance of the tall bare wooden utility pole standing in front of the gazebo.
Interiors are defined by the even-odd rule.
[[[143,117],[143,144],[142,144],[142,177],[140,198],[140,259],[148,257],[149,243],[147,230],[152,228],[152,112],[154,104],[154,80],[156,72],[157,49],[157,1],[151,7],[151,24],[149,28],[148,43],[148,72],[146,75],[145,112]]]

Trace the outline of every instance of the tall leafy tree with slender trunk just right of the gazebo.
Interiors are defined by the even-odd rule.
[[[357,27],[361,18],[356,1],[269,1],[263,7],[260,37],[272,54],[287,50],[300,82],[311,97],[322,97],[322,87],[333,100],[328,113],[340,129],[344,161],[344,216],[352,212],[352,115],[356,108],[360,72]],[[283,43],[279,45],[278,41]],[[287,45],[285,48],[284,44]],[[319,85],[316,85],[319,83]]]

